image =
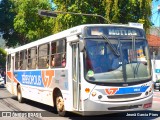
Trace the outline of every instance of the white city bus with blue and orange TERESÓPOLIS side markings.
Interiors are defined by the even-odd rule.
[[[152,107],[151,58],[143,28],[84,24],[8,51],[6,88],[67,112],[100,115]]]

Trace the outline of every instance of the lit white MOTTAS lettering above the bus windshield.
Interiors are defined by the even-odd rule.
[[[137,35],[137,32],[135,30],[110,29],[109,35]]]

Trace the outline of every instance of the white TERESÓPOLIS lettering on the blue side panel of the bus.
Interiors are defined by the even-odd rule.
[[[22,83],[28,85],[41,86],[41,76],[40,75],[22,75]]]

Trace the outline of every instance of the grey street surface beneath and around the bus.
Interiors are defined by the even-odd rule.
[[[70,113],[67,117],[59,117],[53,107],[30,100],[26,100],[24,103],[19,103],[17,98],[11,95],[5,87],[0,86],[0,120],[106,120],[108,118],[110,120],[160,120],[160,92],[154,92],[152,109],[149,110],[149,112],[146,112],[146,114],[152,114],[152,117],[144,116],[145,111],[143,117],[126,117],[125,115],[127,115],[127,113],[129,112],[92,117],[82,117]],[[141,115],[138,111],[136,114]]]

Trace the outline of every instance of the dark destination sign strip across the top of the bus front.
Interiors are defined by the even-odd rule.
[[[138,36],[144,37],[143,29],[132,28],[132,27],[116,27],[116,26],[96,26],[87,27],[87,36]]]

